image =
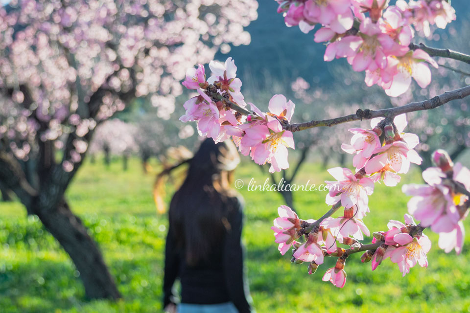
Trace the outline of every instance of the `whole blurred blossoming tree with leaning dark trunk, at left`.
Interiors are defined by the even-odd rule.
[[[64,193],[95,127],[136,97],[174,110],[186,68],[243,45],[255,0],[11,0],[0,7],[0,181],[69,253],[89,298],[118,298]],[[64,138],[61,140],[61,138]]]

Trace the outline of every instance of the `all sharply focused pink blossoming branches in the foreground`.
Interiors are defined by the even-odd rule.
[[[428,36],[430,25],[444,28],[455,19],[455,11],[445,0],[398,0],[391,6],[386,0],[278,2],[278,12],[284,12],[287,26],[299,25],[308,32],[321,24],[315,41],[329,42],[325,61],[346,57],[353,70],[366,71],[368,86],[377,84],[389,96],[407,91],[412,78],[420,87],[428,86],[431,75],[427,64],[437,67],[432,57],[470,64],[470,55],[411,43],[413,27]],[[436,167],[423,172],[427,185],[403,187],[403,192],[414,196],[408,202],[411,215],[404,215],[404,223],[390,220],[388,230],[374,231],[372,242],[365,244],[362,241],[371,231],[362,219],[374,212],[369,207],[369,197],[373,197],[376,183],[396,186],[411,163],[423,162],[415,150],[419,137],[407,133],[406,113],[436,109],[465,98],[470,95],[470,86],[389,109],[357,109],[345,116],[292,123],[295,104],[280,94],[272,96],[267,112],[247,102],[232,58],[224,64],[211,62],[209,67],[209,79],[201,64],[187,70],[183,85],[197,93],[185,103],[186,114],[180,119],[195,121],[199,134],[216,142],[232,138],[241,154],[251,156],[258,164],[270,164],[270,172],[289,167],[288,151],[295,148],[292,133],[371,120],[368,129],[350,128],[351,137],[341,144],[343,151],[353,155],[355,169],[328,170],[335,180],[326,181],[329,193],[325,203],[330,209],[323,216],[302,220],[288,206],[278,208],[279,217],[272,230],[282,255],[292,248],[291,261],[307,262],[309,274],[324,263],[325,257],[337,258],[335,267],[326,270],[323,280],[343,288],[347,280],[346,260],[357,252],[364,252],[361,262],[371,262],[373,270],[389,257],[403,276],[416,265],[427,267],[432,243],[425,230],[439,233],[438,246],[446,252],[455,249],[460,253],[463,221],[470,207],[470,170],[460,163],[454,165],[445,151],[432,155]],[[342,207],[342,215],[334,218],[332,215]]]

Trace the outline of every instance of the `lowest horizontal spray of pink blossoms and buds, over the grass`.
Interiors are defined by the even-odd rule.
[[[326,218],[318,226],[314,220],[300,220],[288,206],[281,205],[278,208],[279,217],[274,220],[271,229],[274,231],[275,241],[279,244],[281,254],[284,255],[292,247],[292,262],[296,264],[308,262],[309,274],[314,273],[318,266],[324,263],[325,257],[338,257],[335,267],[327,269],[323,275],[323,281],[329,281],[334,286],[343,288],[347,278],[344,270],[346,258],[350,254],[365,250],[358,241],[363,239],[359,229],[369,235],[367,227],[353,218],[356,214],[353,212],[352,209],[345,209],[344,216],[337,219]],[[426,254],[431,248],[431,242],[423,234],[424,227],[421,224],[416,225],[408,214],[405,214],[404,219],[405,224],[390,220],[387,231],[374,233],[372,241],[373,245],[376,244],[374,249],[366,250],[361,257],[363,263],[372,261],[372,270],[388,257],[392,263],[398,265],[403,276],[416,264],[427,267]],[[352,223],[343,227],[346,225],[345,222],[349,221]],[[343,228],[349,230],[342,231]],[[335,233],[336,235],[333,235]],[[353,236],[349,237],[351,233]],[[360,235],[356,237],[354,234]],[[305,242],[301,244],[296,240],[302,236],[305,237]],[[337,242],[350,247],[345,250],[337,246]]]

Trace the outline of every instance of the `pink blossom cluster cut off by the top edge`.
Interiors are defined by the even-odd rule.
[[[308,33],[321,25],[314,41],[328,43],[325,61],[347,58],[353,70],[365,71],[367,86],[378,85],[393,97],[404,93],[412,78],[425,88],[431,82],[426,63],[438,67],[423,50],[410,50],[414,29],[430,36],[430,25],[446,28],[455,20],[447,0],[277,1],[287,26],[299,25]]]

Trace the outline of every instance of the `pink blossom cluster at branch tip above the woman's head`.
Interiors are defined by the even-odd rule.
[[[186,114],[180,120],[196,121],[198,133],[215,142],[232,137],[241,154],[258,164],[271,164],[271,173],[287,169],[287,148],[294,149],[294,140],[282,123],[290,121],[295,104],[276,94],[269,101],[269,112],[262,112],[245,103],[232,58],[224,64],[211,61],[209,68],[212,75],[207,80],[203,65],[188,69],[183,85],[197,94],[185,102]],[[245,110],[248,105],[251,112]]]

